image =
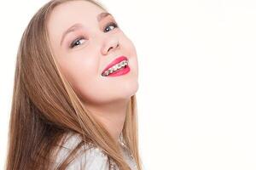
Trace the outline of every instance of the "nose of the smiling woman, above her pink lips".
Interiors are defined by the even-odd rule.
[[[102,45],[102,54],[107,55],[113,50],[119,48],[119,39],[117,37],[108,37]]]

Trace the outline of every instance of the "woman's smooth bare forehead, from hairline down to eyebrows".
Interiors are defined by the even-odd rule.
[[[97,22],[97,14],[104,11],[96,4],[83,0],[61,3],[49,15],[47,27],[49,32],[55,34],[55,32],[65,31],[68,26],[72,26],[74,23],[79,22],[84,26],[90,25],[90,23]]]

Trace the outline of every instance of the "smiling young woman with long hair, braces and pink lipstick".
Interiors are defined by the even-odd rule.
[[[17,54],[6,167],[142,169],[137,53],[93,0],[52,0]]]

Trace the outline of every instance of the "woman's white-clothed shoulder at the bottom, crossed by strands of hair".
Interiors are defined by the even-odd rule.
[[[56,164],[61,163],[69,153],[81,142],[77,133],[69,133],[61,145],[61,150],[55,156]],[[109,167],[108,156],[101,149],[92,144],[83,144],[77,156],[67,167],[68,170],[107,170]]]

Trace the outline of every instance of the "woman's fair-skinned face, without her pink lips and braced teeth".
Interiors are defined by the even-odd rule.
[[[61,73],[88,104],[130,99],[138,88],[137,52],[111,14],[86,1],[62,3],[50,14],[50,47]],[[128,58],[130,71],[103,77],[113,59]]]

